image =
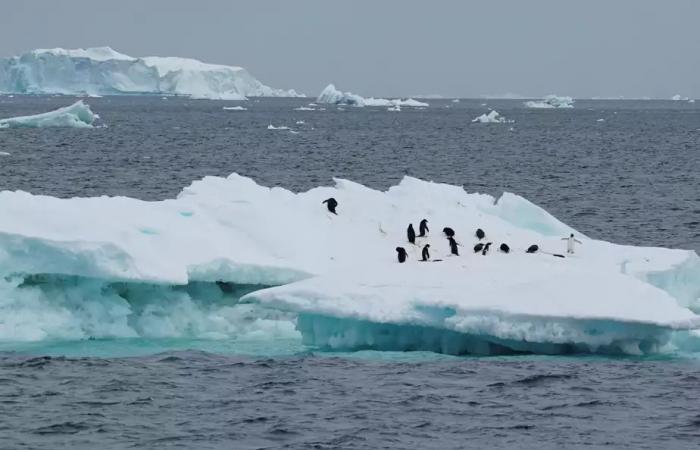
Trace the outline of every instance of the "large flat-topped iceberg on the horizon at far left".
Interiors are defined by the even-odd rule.
[[[243,100],[295,97],[273,89],[241,67],[174,57],[135,58],[109,47],[38,49],[0,59],[0,92],[16,94],[187,95]]]

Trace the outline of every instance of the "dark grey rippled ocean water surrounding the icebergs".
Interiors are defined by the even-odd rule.
[[[72,101],[0,96],[0,117]],[[106,127],[0,131],[0,190],[163,199],[231,172],[293,190],[333,177],[387,188],[408,174],[518,193],[591,237],[700,251],[700,105],[294,109],[310,101],[88,99]],[[515,123],[470,123],[489,107]],[[698,388],[695,354],[328,354],[294,336],[0,342],[0,448],[697,448]]]

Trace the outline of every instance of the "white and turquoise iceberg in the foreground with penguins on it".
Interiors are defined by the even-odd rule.
[[[642,354],[700,327],[694,252],[590,239],[508,193],[410,177],[386,192],[336,180],[293,193],[233,174],[157,202],[5,191],[0,210],[5,341],[296,326],[339,350]],[[413,246],[406,227],[422,218],[431,232]],[[485,256],[471,251],[477,227],[494,242]],[[552,256],[570,233],[577,253]],[[420,262],[426,243],[433,261]],[[541,250],[525,253],[532,244]]]

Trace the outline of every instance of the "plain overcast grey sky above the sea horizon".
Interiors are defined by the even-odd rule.
[[[0,56],[109,45],[317,95],[700,98],[698,0],[0,0]]]

